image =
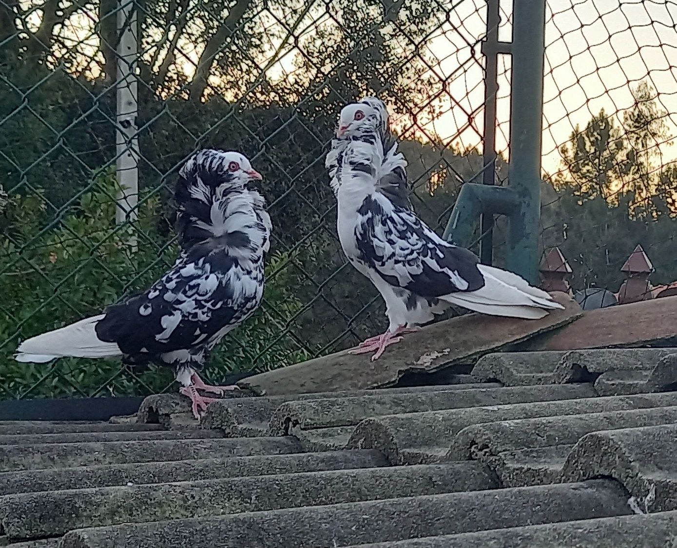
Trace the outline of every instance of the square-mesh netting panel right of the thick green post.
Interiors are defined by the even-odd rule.
[[[676,19],[674,0],[548,3],[542,242],[597,304],[677,279]]]

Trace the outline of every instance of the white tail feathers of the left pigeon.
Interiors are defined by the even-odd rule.
[[[56,358],[105,358],[122,354],[114,342],[96,336],[94,327],[103,314],[92,316],[24,340],[16,349],[16,361],[43,363]]]

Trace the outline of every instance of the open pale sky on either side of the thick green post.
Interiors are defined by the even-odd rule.
[[[450,14],[450,22],[429,41],[429,55],[440,60],[435,68],[441,78],[451,74],[445,86],[445,112],[429,128],[442,141],[464,146],[480,145],[481,139],[467,124],[466,112],[477,112],[473,126],[483,127],[483,55],[468,43],[485,32],[485,1],[462,0]],[[510,41],[512,3],[501,1],[499,40]],[[605,109],[617,114],[633,104],[631,86],[642,79],[657,91],[657,101],[670,113],[665,122],[671,136],[677,134],[677,0],[548,0],[544,59],[543,167],[548,173],[560,168],[558,148],[576,124],[583,128]],[[499,55],[496,150],[505,152],[510,119],[510,56]],[[463,66],[464,70],[458,71]],[[454,106],[456,104],[456,106]],[[428,131],[429,128],[427,128]],[[480,145],[481,146],[481,145]],[[660,145],[663,162],[675,160],[677,150]]]

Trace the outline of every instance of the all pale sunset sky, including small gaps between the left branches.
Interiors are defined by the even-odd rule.
[[[24,0],[31,1],[31,0]],[[418,113],[418,129],[405,132],[405,137],[424,139],[427,135],[444,143],[481,149],[483,127],[483,66],[479,41],[486,32],[485,0],[438,0],[449,10],[448,18],[420,48],[420,54],[431,62],[427,74],[433,78],[429,95],[441,97],[437,108],[440,116],[431,120],[426,112]],[[297,18],[299,5],[280,7],[283,20]],[[297,37],[308,37],[318,26],[335,24],[327,13],[334,6],[318,1],[294,30]],[[317,8],[317,9],[315,9]],[[66,34],[77,44],[81,58],[97,48],[94,30],[95,12],[72,16]],[[500,0],[499,39],[510,41],[512,34],[512,0]],[[335,15],[335,14],[334,14]],[[37,25],[41,17],[37,9],[30,16]],[[35,21],[32,21],[35,20]],[[261,24],[275,24],[271,14],[260,16]],[[592,116],[605,109],[617,117],[621,125],[622,111],[633,104],[631,86],[648,81],[657,91],[657,101],[670,116],[665,120],[670,136],[677,135],[677,0],[547,0],[546,49],[544,60],[543,168],[554,173],[561,168],[559,147],[568,141],[576,124],[584,127]],[[30,24],[29,23],[29,24]],[[191,20],[190,25],[198,24]],[[190,29],[188,29],[190,30]],[[158,39],[165,29],[157,29]],[[179,43],[177,55],[180,69],[190,75],[198,60],[200,47],[189,36]],[[171,35],[171,30],[170,30]],[[271,81],[293,74],[294,58],[299,55],[290,40],[280,47],[281,39],[269,33],[269,43],[261,53],[275,55],[267,71]],[[153,40],[151,40],[153,42]],[[278,49],[279,48],[279,49]],[[152,49],[143,53],[150,60]],[[164,53],[157,62],[161,62]],[[510,55],[499,55],[496,150],[508,155],[510,118]],[[89,63],[87,63],[89,64]],[[88,72],[97,75],[96,65]],[[420,87],[420,82],[411,83]],[[424,103],[425,101],[421,101]],[[412,105],[412,109],[416,109]],[[410,118],[399,120],[398,127],[410,127]],[[409,123],[408,123],[409,122]],[[663,163],[677,158],[677,147],[659,145]]]

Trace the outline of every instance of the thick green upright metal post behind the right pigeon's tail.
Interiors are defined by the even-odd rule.
[[[538,283],[541,209],[543,58],[546,0],[514,0],[510,91],[510,217],[508,270]]]

